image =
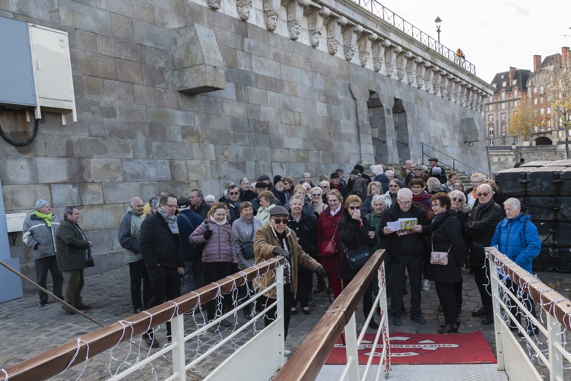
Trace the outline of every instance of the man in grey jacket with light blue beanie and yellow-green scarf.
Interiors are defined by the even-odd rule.
[[[46,288],[49,270],[54,282],[54,295],[63,299],[63,275],[55,259],[55,232],[60,222],[61,219],[58,216],[51,214],[50,204],[46,200],[38,199],[34,212],[24,221],[22,240],[34,250],[36,283]],[[38,291],[38,294],[39,306],[47,306],[47,294],[42,291]]]

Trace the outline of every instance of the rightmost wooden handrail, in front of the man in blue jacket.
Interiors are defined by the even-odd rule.
[[[513,282],[516,282],[518,286],[527,292],[533,300],[556,318],[566,330],[571,332],[571,300],[565,298],[547,284],[538,282],[535,276],[529,274],[513,260],[497,251],[495,247],[486,248],[486,256],[496,264],[496,267],[501,268]]]

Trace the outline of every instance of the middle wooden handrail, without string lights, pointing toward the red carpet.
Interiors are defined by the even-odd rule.
[[[273,381],[315,380],[386,257],[385,250],[375,251],[371,259],[325,311],[323,318],[309,332]]]

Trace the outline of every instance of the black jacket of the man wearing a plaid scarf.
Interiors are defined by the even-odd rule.
[[[139,252],[147,268],[158,264],[168,268],[184,267],[180,235],[173,234],[160,213],[148,216],[141,224]]]

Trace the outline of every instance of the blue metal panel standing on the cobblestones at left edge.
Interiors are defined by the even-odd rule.
[[[1,179],[0,179],[1,180]],[[11,268],[20,271],[20,260],[10,258],[10,246],[8,243],[8,228],[6,226],[6,211],[4,210],[4,198],[2,196],[2,182],[0,181],[0,260]],[[22,280],[18,275],[10,272],[0,265],[0,303],[6,300],[22,298]]]

